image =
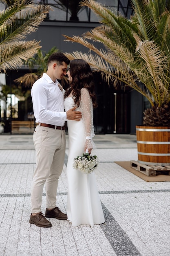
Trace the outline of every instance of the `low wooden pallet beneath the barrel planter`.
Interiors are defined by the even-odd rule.
[[[130,166],[147,176],[156,176],[158,174],[170,175],[170,166],[146,165],[140,164],[137,161],[130,161]]]

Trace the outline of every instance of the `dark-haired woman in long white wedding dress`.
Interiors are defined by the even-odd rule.
[[[94,92],[93,74],[88,63],[75,59],[67,72],[70,88],[66,90],[64,106],[67,111],[73,106],[82,112],[82,119],[67,120],[68,125],[68,199],[67,216],[73,227],[82,224],[102,224],[105,222],[102,205],[97,190],[95,173],[84,174],[73,168],[73,159],[87,152],[91,154],[93,142],[93,107],[97,106]]]

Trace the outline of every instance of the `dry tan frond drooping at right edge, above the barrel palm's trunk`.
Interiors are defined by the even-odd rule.
[[[137,76],[146,85],[160,107],[163,104],[162,99],[163,101],[169,99],[169,77],[165,74],[168,64],[167,58],[154,42],[147,40],[141,42],[137,53],[144,64],[143,69],[137,72]]]

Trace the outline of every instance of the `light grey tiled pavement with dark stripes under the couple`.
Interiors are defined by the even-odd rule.
[[[170,182],[145,182],[115,161],[137,160],[135,135],[96,135],[95,171],[106,223],[29,223],[32,135],[0,135],[0,256],[170,256]],[[66,211],[66,161],[57,206]],[[45,211],[45,191],[42,211]]]

